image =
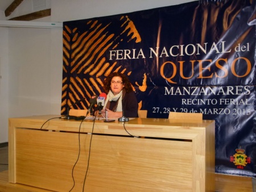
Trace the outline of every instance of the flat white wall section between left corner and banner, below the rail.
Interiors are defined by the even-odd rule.
[[[60,114],[61,35],[62,30],[9,28],[10,117]]]

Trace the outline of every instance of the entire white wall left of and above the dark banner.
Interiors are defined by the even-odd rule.
[[[54,0],[48,3],[51,16],[37,21],[88,19],[186,2],[191,1]],[[31,3],[24,0],[13,14],[31,11]],[[8,141],[8,118],[60,114],[62,30],[0,27],[0,42],[0,143],[4,143]]]

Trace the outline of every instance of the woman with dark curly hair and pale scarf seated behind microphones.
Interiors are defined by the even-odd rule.
[[[121,118],[124,111],[126,118],[138,117],[138,102],[128,77],[117,72],[110,74],[105,80],[104,90],[108,95],[101,111],[103,116],[108,111],[108,118]]]

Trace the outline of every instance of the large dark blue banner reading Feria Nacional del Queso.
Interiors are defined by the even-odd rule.
[[[216,121],[216,173],[255,177],[254,11],[255,1],[195,1],[64,22],[61,114],[125,73],[148,118]]]

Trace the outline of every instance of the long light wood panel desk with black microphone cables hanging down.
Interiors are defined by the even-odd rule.
[[[52,191],[214,191],[213,120],[135,118],[124,127],[57,117],[9,119],[9,182]]]

